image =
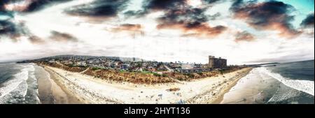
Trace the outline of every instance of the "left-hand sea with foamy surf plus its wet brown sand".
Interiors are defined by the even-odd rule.
[[[36,64],[0,64],[0,104],[80,103]]]

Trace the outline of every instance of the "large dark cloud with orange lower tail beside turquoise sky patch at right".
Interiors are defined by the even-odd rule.
[[[287,38],[300,34],[300,31],[290,24],[294,20],[294,16],[289,13],[295,8],[281,1],[258,3],[257,1],[237,0],[232,4],[230,10],[234,13],[234,17],[246,20],[246,23],[255,29],[281,31],[279,35]]]

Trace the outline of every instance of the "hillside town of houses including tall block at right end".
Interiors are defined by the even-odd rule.
[[[144,61],[136,57],[92,57],[78,55],[61,55],[55,57],[46,57],[37,61],[48,63],[59,63],[66,66],[86,66],[109,68],[125,71],[150,71],[155,73],[179,72],[179,73],[202,73],[217,69],[225,69],[227,59],[215,58],[209,56],[208,64],[175,62]]]

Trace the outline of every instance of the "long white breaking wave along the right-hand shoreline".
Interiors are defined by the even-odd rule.
[[[260,73],[265,73],[290,88],[297,89],[299,91],[304,91],[305,93],[311,94],[312,96],[314,96],[314,81],[292,80],[290,78],[284,78],[279,73],[273,73],[272,71],[267,70],[267,68],[265,67],[260,67],[257,69]]]

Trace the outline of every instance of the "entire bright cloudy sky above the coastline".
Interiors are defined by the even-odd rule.
[[[207,64],[314,59],[314,0],[1,0],[0,62],[59,54]]]

